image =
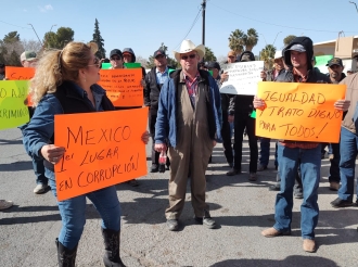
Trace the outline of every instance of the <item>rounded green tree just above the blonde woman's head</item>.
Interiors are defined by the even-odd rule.
[[[67,42],[74,40],[75,31],[69,27],[60,27],[56,33],[44,34],[43,43],[47,48],[63,49]]]

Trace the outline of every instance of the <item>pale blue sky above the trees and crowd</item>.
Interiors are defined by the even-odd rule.
[[[149,58],[162,42],[171,51],[178,50],[186,37],[195,44],[202,42],[202,16],[195,24],[203,0],[0,0],[0,38],[17,30],[22,39],[37,39],[31,23],[42,39],[57,27],[71,27],[75,40],[89,41],[94,20],[100,23],[107,54],[112,49],[130,47],[137,55]],[[356,1],[358,4],[358,0]],[[253,49],[258,54],[266,43],[278,49],[287,35],[305,35],[314,42],[358,35],[358,12],[348,0],[207,0],[205,44],[215,55],[229,51],[228,37],[239,28],[255,28],[259,41]],[[277,38],[276,38],[277,37]]]

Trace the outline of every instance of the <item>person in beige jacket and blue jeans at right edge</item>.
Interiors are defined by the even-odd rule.
[[[340,85],[346,85],[346,100],[353,104],[342,122],[341,127],[341,188],[338,189],[338,198],[331,202],[333,207],[346,207],[353,205],[353,196],[355,192],[355,170],[356,157],[358,153],[358,74],[353,74],[343,79]],[[358,205],[358,183],[356,185],[356,205]]]

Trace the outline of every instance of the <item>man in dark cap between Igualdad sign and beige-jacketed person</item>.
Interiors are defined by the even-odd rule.
[[[346,75],[343,73],[344,66],[342,60],[338,58],[333,58],[327,64],[328,71],[330,74],[330,79],[332,84],[340,84]],[[337,191],[340,189],[340,161],[341,161],[341,153],[340,153],[340,142],[338,143],[329,143],[329,151],[330,151],[330,190]]]

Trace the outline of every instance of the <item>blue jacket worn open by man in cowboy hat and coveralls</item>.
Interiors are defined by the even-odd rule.
[[[181,69],[171,74],[171,77],[163,85],[159,94],[159,107],[155,124],[155,143],[167,143],[177,145],[177,88],[179,85]],[[219,88],[208,72],[200,71],[201,79],[207,91],[206,106],[209,137],[221,142],[221,98]]]

